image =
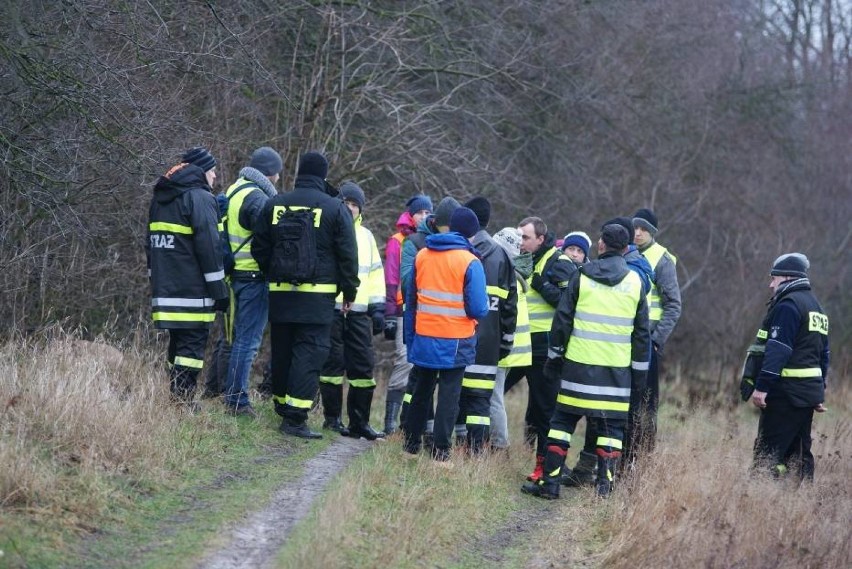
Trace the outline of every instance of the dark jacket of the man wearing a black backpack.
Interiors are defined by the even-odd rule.
[[[316,227],[316,273],[313,285],[333,285],[333,291],[313,292],[309,285],[300,290],[281,290],[282,283],[269,283],[269,321],[328,324],[334,318],[338,293],[352,302],[358,291],[358,247],[352,214],[337,190],[318,176],[299,176],[291,192],[270,198],[254,227],[251,253],[260,270],[269,274],[273,253],[273,226],[276,207],[301,206],[319,212]],[[326,287],[323,287],[326,288]]]

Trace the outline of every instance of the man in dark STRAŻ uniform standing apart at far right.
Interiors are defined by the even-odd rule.
[[[792,461],[801,479],[813,480],[811,422],[814,411],[825,411],[829,348],[828,317],[811,292],[809,267],[801,253],[781,255],[772,265],[774,294],[758,332],[765,355],[751,401],[760,409],[755,467],[783,476]]]

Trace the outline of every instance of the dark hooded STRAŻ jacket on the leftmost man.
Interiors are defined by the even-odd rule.
[[[178,164],[154,186],[148,211],[148,271],[157,328],[204,328],[226,298],[219,206],[204,171]]]

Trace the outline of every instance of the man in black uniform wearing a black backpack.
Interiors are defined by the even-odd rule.
[[[264,206],[251,251],[269,280],[272,398],[283,418],[280,430],[309,439],[322,438],[307,419],[331,345],[334,299],[343,294],[341,312],[347,313],[359,285],[352,215],[327,174],[322,154],[302,156],[293,191]],[[297,214],[309,221],[300,226]],[[306,267],[312,274],[296,276]]]

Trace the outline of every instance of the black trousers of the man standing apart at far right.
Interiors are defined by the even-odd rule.
[[[813,407],[793,407],[783,396],[768,398],[766,407],[760,410],[757,440],[754,442],[754,467],[768,468],[778,476],[795,466],[799,478],[813,480],[813,418]]]

